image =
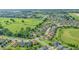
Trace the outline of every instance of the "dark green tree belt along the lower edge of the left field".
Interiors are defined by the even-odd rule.
[[[17,36],[17,37],[22,37],[22,38],[32,37],[30,27],[27,27],[26,29],[21,28],[19,32],[17,32],[16,34],[13,34],[8,28],[4,28],[1,24],[0,24],[0,35]]]

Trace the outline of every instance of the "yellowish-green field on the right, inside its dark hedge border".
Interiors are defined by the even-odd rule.
[[[59,34],[60,35],[60,34]],[[79,48],[79,29],[67,28],[62,29],[60,40],[64,44]]]

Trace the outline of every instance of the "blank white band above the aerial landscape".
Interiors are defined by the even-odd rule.
[[[0,9],[78,9],[78,0],[0,0]]]

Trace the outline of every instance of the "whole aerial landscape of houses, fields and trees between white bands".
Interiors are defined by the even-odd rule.
[[[79,50],[79,10],[0,10],[0,50]]]

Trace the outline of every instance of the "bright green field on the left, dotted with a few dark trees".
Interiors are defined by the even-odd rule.
[[[10,19],[14,19],[14,22]],[[42,21],[43,20],[41,19],[35,18],[0,18],[0,24],[2,24],[4,28],[8,28],[13,33],[19,32],[21,28],[35,28],[35,26],[41,23]]]

